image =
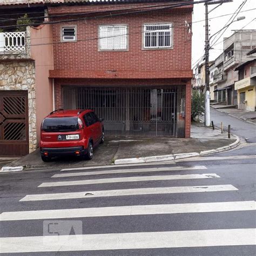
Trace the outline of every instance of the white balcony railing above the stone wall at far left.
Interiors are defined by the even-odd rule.
[[[25,31],[0,33],[0,53],[24,51],[25,42]]]

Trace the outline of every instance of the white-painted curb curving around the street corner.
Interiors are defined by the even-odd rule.
[[[190,158],[190,157],[198,157],[198,156],[206,156],[208,154],[219,153],[223,151],[227,151],[230,149],[234,149],[240,144],[240,138],[234,134],[232,134],[237,140],[234,143],[224,146],[218,147],[218,149],[213,150],[206,150],[198,152],[190,152],[190,153],[180,153],[180,154],[167,154],[164,156],[153,156],[153,157],[138,157],[138,158],[124,158],[124,159],[117,159],[114,161],[114,165],[122,165],[122,164],[139,164],[139,163],[149,163],[149,162],[158,162],[158,161],[169,161],[169,160],[177,160],[183,158]]]

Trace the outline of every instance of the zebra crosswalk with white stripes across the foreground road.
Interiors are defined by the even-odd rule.
[[[82,253],[103,250],[108,255],[108,250],[253,246],[256,244],[255,228],[247,224],[242,223],[239,226],[232,224],[231,227],[220,221],[218,228],[212,228],[213,225],[208,226],[208,223],[204,222],[207,218],[212,221],[214,219],[212,214],[217,214],[217,220],[226,218],[228,214],[228,221],[231,221],[232,214],[251,214],[256,210],[253,200],[240,200],[241,198],[234,200],[239,189],[232,184],[227,184],[220,174],[208,172],[206,166],[71,169],[64,173],[56,173],[47,179],[35,187],[36,193],[25,194],[19,199],[17,204],[22,204],[22,209],[17,207],[17,211],[5,211],[0,214],[2,227],[5,223],[6,226],[12,223],[17,224],[16,236],[4,235],[0,238],[0,253]],[[176,181],[179,182],[178,186],[170,186]],[[152,186],[151,182],[156,184]],[[170,184],[162,186],[162,182]],[[190,185],[187,185],[187,182]],[[126,188],[120,188],[120,184],[126,184]],[[103,185],[104,187],[99,189]],[[88,190],[87,186],[96,186],[97,189]],[[221,200],[221,195],[225,193],[230,197],[232,195],[233,200]],[[170,194],[168,203],[161,202],[161,196],[168,194]],[[215,199],[202,201],[197,199],[198,194],[202,196],[214,194]],[[191,195],[193,202],[185,200],[186,195]],[[147,199],[151,196],[154,198],[149,204],[146,199],[143,200],[143,196],[147,196]],[[175,200],[176,196],[182,196],[178,203]],[[116,200],[117,203],[107,205],[106,199],[110,198],[112,202]],[[118,200],[122,198],[124,199],[122,205],[118,205]],[[79,203],[83,204],[80,205],[76,201],[78,199]],[[71,201],[76,202],[76,207],[70,207]],[[97,202],[99,206],[95,206]],[[47,207],[42,210],[44,204]],[[204,217],[199,221],[200,225],[197,224],[198,220],[193,219],[198,218],[197,216]],[[161,223],[162,217],[164,217],[164,223],[155,227],[154,222]],[[74,221],[77,225],[80,223],[90,230],[90,228],[93,229],[91,226],[89,228],[90,223],[107,222],[109,218],[113,220],[119,218],[123,225],[118,225],[117,221],[117,226],[111,226],[113,230],[109,228],[104,230],[103,225],[95,232],[89,232],[83,228],[77,232],[73,226],[70,233],[61,233],[58,230],[50,232],[52,225],[58,224],[58,228],[62,228],[65,221],[68,221],[67,223]],[[143,224],[138,222],[141,218],[147,219],[148,224],[142,230],[140,227]],[[176,228],[168,225],[168,221],[166,223],[166,220],[171,218],[174,218],[173,224],[175,223]],[[129,221],[132,221],[134,226],[137,225],[134,232],[126,228],[129,226]],[[190,221],[193,221],[193,225]],[[21,231],[19,223],[22,223],[25,230]],[[48,226],[45,229],[46,224]],[[31,228],[27,228],[30,225],[35,225],[35,229],[42,228],[36,229],[31,235]],[[204,225],[205,228],[201,228]],[[48,233],[42,235],[42,230]],[[118,255],[122,255],[122,251],[119,251]]]

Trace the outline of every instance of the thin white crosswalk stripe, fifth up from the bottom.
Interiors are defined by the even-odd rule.
[[[51,178],[64,178],[64,177],[77,177],[99,174],[118,174],[118,173],[140,173],[140,172],[165,172],[165,171],[185,171],[185,170],[205,170],[207,167],[203,165],[198,166],[174,166],[174,167],[155,167],[144,169],[122,169],[110,171],[94,171],[94,172],[73,172],[73,173],[60,173],[55,174]]]

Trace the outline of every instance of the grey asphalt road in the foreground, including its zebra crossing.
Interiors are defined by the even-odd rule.
[[[176,163],[2,173],[0,252],[254,255],[255,166],[246,143]]]

